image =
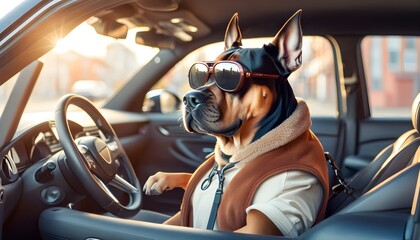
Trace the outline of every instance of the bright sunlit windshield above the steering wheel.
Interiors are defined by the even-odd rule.
[[[133,36],[127,39],[132,42],[99,35],[87,23],[63,39],[51,39],[55,48],[40,58],[44,66],[25,111],[52,111],[67,93],[85,96],[102,106],[159,51],[136,44]],[[0,107],[9,91],[11,87],[1,86]]]

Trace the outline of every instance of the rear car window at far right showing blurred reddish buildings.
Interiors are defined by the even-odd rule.
[[[409,117],[420,92],[420,37],[368,36],[361,44],[372,117]]]

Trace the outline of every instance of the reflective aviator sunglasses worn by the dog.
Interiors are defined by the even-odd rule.
[[[192,89],[204,86],[210,74],[213,74],[216,85],[225,92],[236,92],[242,88],[245,78],[279,78],[280,75],[244,71],[241,64],[234,61],[198,62],[188,72]]]

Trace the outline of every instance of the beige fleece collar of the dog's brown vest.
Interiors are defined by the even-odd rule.
[[[248,146],[235,153],[230,158],[229,162],[237,162],[235,166],[243,168],[251,160],[273,149],[286,145],[307,131],[312,124],[309,108],[302,99],[296,98],[296,100],[298,104],[292,115],[284,120],[279,126],[264,134],[260,139],[250,143]],[[215,151],[220,151],[220,147],[217,143]],[[220,160],[218,161],[217,158],[216,161],[219,166],[225,164],[225,162],[219,162]]]

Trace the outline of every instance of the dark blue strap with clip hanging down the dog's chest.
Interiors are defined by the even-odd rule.
[[[217,168],[213,168],[212,171],[209,174],[209,178],[207,178],[203,182],[203,183],[205,183],[207,181],[211,181],[211,178],[214,176],[214,172],[217,173],[217,176],[218,176],[218,179],[219,179],[219,186],[218,186],[218,188],[216,190],[216,193],[214,195],[213,206],[211,207],[209,221],[207,223],[207,230],[213,230],[214,224],[216,223],[217,210],[219,209],[219,205],[220,205],[220,202],[222,200],[223,183],[225,181],[225,176],[224,176],[225,171],[233,168],[235,166],[235,164],[236,163],[228,163],[221,170],[217,170]],[[204,185],[207,185],[207,184],[204,184]],[[210,183],[208,185],[210,185]],[[202,188],[203,188],[203,184],[202,184]]]

